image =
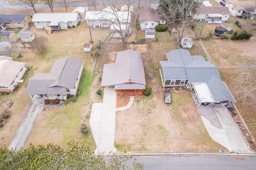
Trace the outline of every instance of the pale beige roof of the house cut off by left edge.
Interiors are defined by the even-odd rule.
[[[0,86],[9,87],[25,63],[4,59],[0,61]]]

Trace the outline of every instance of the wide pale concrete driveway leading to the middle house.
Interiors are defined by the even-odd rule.
[[[114,147],[116,126],[116,91],[105,87],[102,103],[93,103],[90,127],[96,143],[95,152],[116,152]]]

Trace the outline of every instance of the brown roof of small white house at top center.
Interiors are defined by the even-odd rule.
[[[146,21],[158,22],[158,20],[160,20],[160,16],[157,10],[146,7],[140,10],[139,19],[140,19],[140,22],[146,22]]]

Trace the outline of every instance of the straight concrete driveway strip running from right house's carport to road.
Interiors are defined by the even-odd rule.
[[[252,153],[227,107],[222,107],[222,105],[213,105],[213,108],[218,116],[226,137],[228,138],[232,151],[237,153]]]

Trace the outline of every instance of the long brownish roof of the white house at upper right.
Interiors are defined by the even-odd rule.
[[[230,14],[227,6],[200,6],[196,9],[197,14]]]

